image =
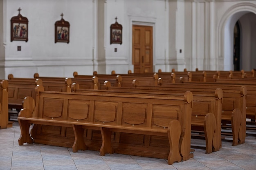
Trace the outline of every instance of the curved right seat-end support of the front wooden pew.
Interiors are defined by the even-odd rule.
[[[180,162],[182,157],[180,155],[180,136],[181,126],[177,120],[172,120],[168,126],[168,139],[170,144],[170,152],[168,155],[168,164],[171,165],[174,162]]]

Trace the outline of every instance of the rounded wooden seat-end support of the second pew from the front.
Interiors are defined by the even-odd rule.
[[[212,113],[204,117],[204,134],[206,142],[206,154],[220,150],[220,144],[215,138],[216,135],[216,118]]]

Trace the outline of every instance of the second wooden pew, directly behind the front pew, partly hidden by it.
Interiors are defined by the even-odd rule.
[[[75,93],[97,93],[97,94],[122,94],[122,95],[140,95],[140,96],[161,96],[161,97],[176,97],[183,96],[185,91],[181,93],[170,93],[159,91],[129,91],[123,87],[111,87],[109,82],[105,82],[105,88],[108,90],[88,90],[79,88],[79,84],[72,84],[72,92]],[[112,89],[112,90],[110,90]],[[121,90],[120,90],[121,89]],[[201,130],[205,133],[206,153],[218,151],[221,147],[221,103],[222,90],[216,89],[212,94],[196,94],[193,95],[193,108],[191,126],[192,130]]]

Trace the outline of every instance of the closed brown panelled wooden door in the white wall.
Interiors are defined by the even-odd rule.
[[[132,26],[132,64],[134,73],[153,72],[152,26]]]

